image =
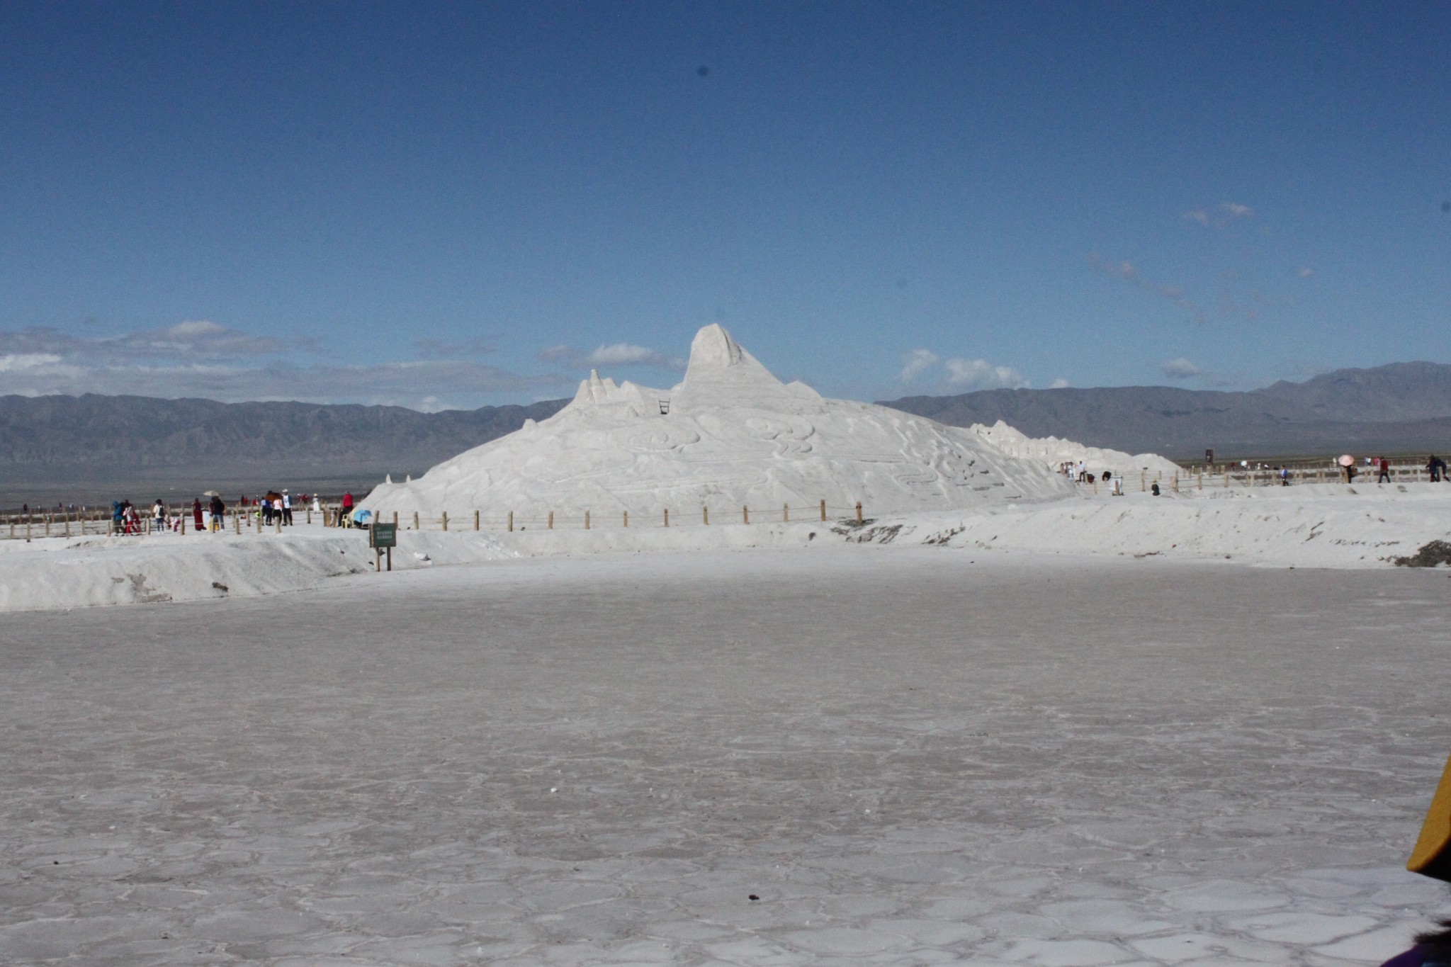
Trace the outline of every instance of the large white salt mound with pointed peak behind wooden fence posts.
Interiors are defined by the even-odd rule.
[[[376,512],[479,509],[659,513],[699,507],[762,512],[782,505],[868,513],[953,510],[1068,497],[1042,460],[1019,460],[978,433],[900,410],[821,397],[782,383],[721,326],[691,345],[670,390],[598,374],[543,422],[385,483]]]

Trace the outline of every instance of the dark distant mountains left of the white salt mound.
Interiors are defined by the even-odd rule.
[[[6,505],[369,490],[547,419],[569,400],[419,413],[400,406],[218,403],[145,396],[0,396]],[[155,493],[152,493],[155,490]]]

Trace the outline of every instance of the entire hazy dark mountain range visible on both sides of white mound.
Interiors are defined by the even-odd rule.
[[[141,396],[0,397],[0,503],[149,500],[216,487],[341,493],[402,478],[569,400],[419,413],[398,406],[218,403]],[[1332,452],[1451,452],[1451,365],[1396,362],[1222,393],[1165,386],[984,390],[885,402],[953,426],[1197,461]]]

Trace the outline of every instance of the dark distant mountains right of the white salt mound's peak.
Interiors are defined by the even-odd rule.
[[[1451,365],[1393,362],[1225,393],[1168,386],[981,390],[884,402],[952,426],[1004,420],[1130,454],[1199,461],[1331,452],[1451,451]]]

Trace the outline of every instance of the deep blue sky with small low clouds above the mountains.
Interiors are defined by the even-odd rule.
[[[0,393],[1451,361],[1444,3],[0,6]]]

